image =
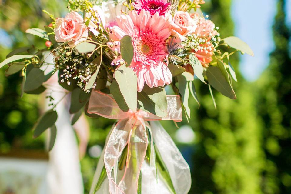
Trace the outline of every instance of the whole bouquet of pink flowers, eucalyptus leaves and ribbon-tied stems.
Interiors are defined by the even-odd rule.
[[[44,29],[44,49],[19,48],[0,63],[6,75],[20,72],[22,94],[51,90],[58,82],[71,94],[74,123],[89,117],[118,120],[107,136],[90,193],[188,193],[189,166],[159,120],[188,120],[190,95],[199,103],[194,76],[231,99],[236,80],[229,57],[253,55],[236,37],[220,38],[219,27],[203,16],[202,0],[68,0],[69,13]],[[233,48],[222,52],[220,47]],[[45,60],[53,55],[53,63]],[[52,72],[44,69],[53,66]],[[168,86],[168,87],[167,87]],[[171,95],[167,95],[171,94]],[[212,96],[213,98],[213,96]],[[51,103],[36,123],[34,136],[51,130],[52,149],[58,114]]]

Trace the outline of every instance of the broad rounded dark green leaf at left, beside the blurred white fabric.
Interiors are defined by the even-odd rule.
[[[45,81],[44,71],[34,67],[28,72],[26,76],[24,91],[27,92],[38,89],[44,81]]]

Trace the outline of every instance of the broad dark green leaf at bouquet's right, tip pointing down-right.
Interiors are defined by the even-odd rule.
[[[223,95],[236,99],[236,94],[233,91],[230,83],[225,79],[219,67],[210,66],[207,68],[206,75],[209,84]]]

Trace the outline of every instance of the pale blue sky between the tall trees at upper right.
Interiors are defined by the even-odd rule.
[[[291,0],[287,1],[287,23],[291,24]],[[233,0],[232,17],[235,35],[247,42],[255,56],[241,56],[240,71],[249,80],[256,80],[269,63],[273,50],[272,25],[276,14],[275,0]]]

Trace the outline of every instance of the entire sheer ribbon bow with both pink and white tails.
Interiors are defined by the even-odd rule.
[[[100,91],[92,91],[88,112],[109,119],[117,119],[118,122],[113,125],[111,132],[107,136],[106,146],[99,159],[90,194],[137,193],[140,171],[146,168],[144,159],[148,143],[150,143],[149,150],[151,150],[149,168],[145,170],[145,173],[142,173],[142,193],[161,193],[159,188],[161,183],[157,180],[154,149],[158,149],[168,169],[175,190],[172,192],[176,194],[188,193],[191,186],[189,166],[162,125],[159,122],[154,122],[158,120],[182,121],[182,107],[179,96],[167,95],[167,102],[168,116],[161,118],[143,110],[123,112],[110,95]],[[150,125],[147,121],[151,121]],[[125,168],[120,171],[117,166],[118,159],[126,146],[126,164]],[[94,187],[100,177],[103,165],[105,166],[108,180],[102,183],[98,191],[95,191]],[[145,184],[147,186],[144,186]],[[165,193],[171,192],[167,190]]]

